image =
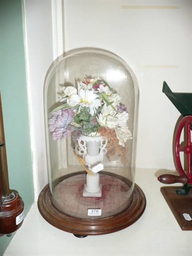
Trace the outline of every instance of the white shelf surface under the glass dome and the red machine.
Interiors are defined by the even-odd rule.
[[[157,176],[166,172],[136,170],[147,207],[136,223],[112,234],[77,238],[47,223],[35,202],[4,256],[191,256],[192,231],[180,229],[161,195],[166,185]]]

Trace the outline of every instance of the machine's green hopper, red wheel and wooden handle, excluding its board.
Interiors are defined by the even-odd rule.
[[[158,180],[164,184],[172,184],[180,182],[185,184],[184,188],[178,193],[188,193],[192,184],[192,143],[191,143],[191,129],[192,129],[192,93],[173,93],[166,82],[163,83],[163,92],[172,101],[175,107],[179,110],[183,118],[180,120],[175,132],[175,139],[173,141],[173,157],[175,159],[175,166],[180,176],[164,174],[158,177]],[[184,132],[184,141],[182,141],[182,132]],[[184,153],[186,157],[186,169],[181,160]]]

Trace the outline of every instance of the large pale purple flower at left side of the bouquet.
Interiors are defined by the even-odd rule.
[[[52,113],[49,118],[49,131],[52,140],[61,140],[65,136],[69,136],[71,129],[68,125],[74,120],[74,111],[72,109],[60,109]]]

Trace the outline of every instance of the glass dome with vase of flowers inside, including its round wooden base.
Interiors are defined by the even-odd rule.
[[[134,184],[138,83],[127,63],[98,49],[65,54],[45,79],[44,109],[45,220],[79,237],[138,220],[146,204]]]

